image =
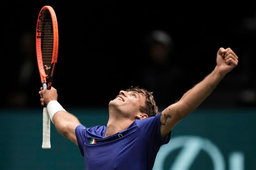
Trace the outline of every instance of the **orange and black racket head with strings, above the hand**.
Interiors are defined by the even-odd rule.
[[[58,46],[59,33],[56,14],[51,6],[44,6],[38,15],[36,25],[36,56],[41,82],[48,83],[47,88],[51,88],[57,63]]]

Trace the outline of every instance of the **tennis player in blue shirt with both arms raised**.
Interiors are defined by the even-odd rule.
[[[152,169],[156,154],[161,145],[169,142],[173,127],[192,113],[237,63],[238,57],[230,48],[220,48],[212,73],[159,114],[151,92],[139,88],[120,91],[109,102],[107,127],[81,125],[57,102],[54,88],[41,88],[40,101],[42,105],[46,103],[60,134],[79,146],[85,169]]]

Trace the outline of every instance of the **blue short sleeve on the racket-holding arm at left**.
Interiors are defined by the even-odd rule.
[[[76,126],[75,132],[76,132],[76,140],[79,147],[79,150],[81,152],[81,155],[84,156],[84,143],[85,143],[85,133],[86,133],[86,127],[84,125],[78,125]]]

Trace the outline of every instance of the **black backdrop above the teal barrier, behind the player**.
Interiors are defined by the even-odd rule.
[[[40,107],[35,39],[44,5],[58,18],[53,87],[63,106],[107,107],[133,85],[153,91],[166,107],[214,69],[220,47],[232,48],[239,64],[202,107],[255,106],[255,4],[44,1],[1,5],[1,107]],[[164,66],[152,64],[147,53],[154,30],[172,39]]]

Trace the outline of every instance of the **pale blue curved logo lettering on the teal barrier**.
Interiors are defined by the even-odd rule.
[[[212,160],[213,170],[225,170],[225,159],[220,149],[210,140],[197,136],[173,137],[168,144],[163,145],[156,157],[153,170],[164,170],[164,161],[174,150],[181,149],[169,170],[189,170],[198,154],[203,151]],[[244,170],[244,155],[234,152],[230,155],[230,170]]]

